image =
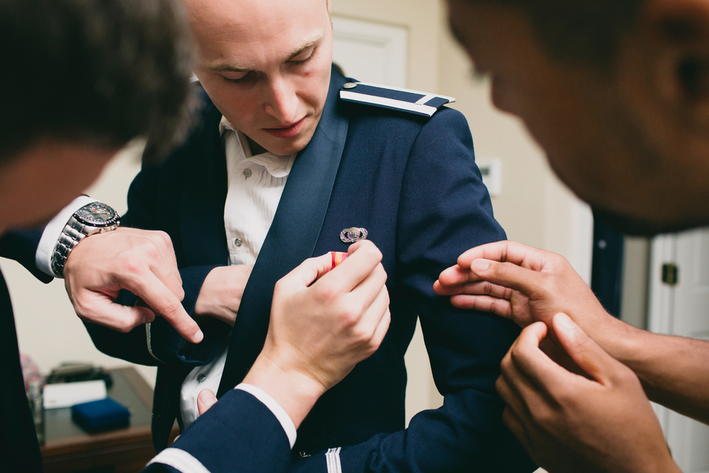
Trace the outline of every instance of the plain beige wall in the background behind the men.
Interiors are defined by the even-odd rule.
[[[493,199],[496,217],[508,237],[528,245],[561,252],[574,261],[579,238],[574,228],[574,199],[549,172],[540,149],[519,121],[495,111],[489,84],[471,79],[467,57],[445,28],[445,12],[437,0],[332,0],[333,13],[403,26],[408,30],[408,87],[437,91],[457,98],[455,107],[470,123],[479,159],[503,162],[502,194]],[[138,162],[135,149],[108,167],[92,196],[125,211],[125,191]],[[20,347],[44,372],[65,360],[89,360],[104,366],[125,365],[101,355],[74,315],[62,282],[40,284],[13,262],[0,260],[13,296]],[[410,386],[408,417],[423,408],[440,406],[420,334],[407,354]],[[143,369],[147,379],[154,369]]]

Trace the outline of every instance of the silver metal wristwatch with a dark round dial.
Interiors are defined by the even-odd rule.
[[[118,228],[120,216],[113,208],[101,202],[91,202],[79,208],[62,230],[52,254],[52,271],[64,276],[64,264],[69,253],[84,238],[94,233],[104,233]]]

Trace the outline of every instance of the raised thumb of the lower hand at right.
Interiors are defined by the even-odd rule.
[[[584,330],[579,328],[565,313],[557,313],[552,318],[552,328],[559,343],[591,379],[602,384],[608,379],[608,373],[620,362],[608,355],[598,343],[591,340]]]

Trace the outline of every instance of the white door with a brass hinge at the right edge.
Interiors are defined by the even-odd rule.
[[[668,264],[677,268],[674,285],[662,281]],[[649,330],[709,340],[709,229],[655,238],[650,267]],[[709,426],[661,406],[655,411],[682,471],[709,473]]]

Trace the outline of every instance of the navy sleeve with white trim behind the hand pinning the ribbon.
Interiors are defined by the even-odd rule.
[[[291,448],[281,424],[251,394],[232,389],[143,472],[286,472]],[[160,463],[164,462],[164,463]]]

